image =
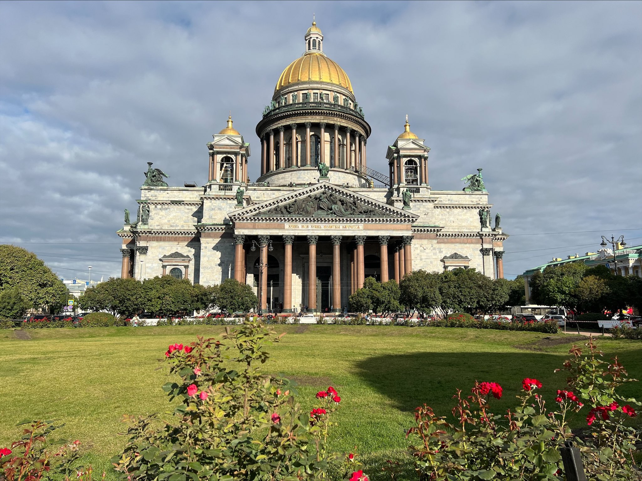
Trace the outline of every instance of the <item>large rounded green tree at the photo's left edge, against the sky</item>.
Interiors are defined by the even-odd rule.
[[[0,246],[0,291],[17,288],[33,307],[55,312],[67,288],[35,254],[16,246]]]

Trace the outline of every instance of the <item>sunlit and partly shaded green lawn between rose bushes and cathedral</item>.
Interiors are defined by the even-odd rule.
[[[564,374],[553,369],[568,357],[571,345],[550,346],[544,340],[564,335],[457,328],[275,329],[288,334],[272,348],[264,369],[297,380],[304,407],[312,405],[318,390],[333,385],[342,402],[331,448],[357,446],[359,453],[380,459],[407,446],[404,432],[417,405],[428,403],[435,412],[449,414],[456,387],[469,391],[475,379],[504,387],[501,401],[493,403],[496,412],[511,405],[525,377],[541,380],[553,402],[550,394],[565,385]],[[107,468],[108,458],[123,445],[117,434],[123,414],[169,407],[160,389],[166,371],[157,369],[168,344],[222,331],[218,326],[0,331],[0,447],[19,435],[15,424],[22,419],[57,418],[66,423],[64,437],[83,442],[85,462]],[[618,355],[631,376],[642,378],[642,342],[607,336],[598,337],[598,346],[607,358]],[[632,383],[621,392],[640,397],[642,388]]]

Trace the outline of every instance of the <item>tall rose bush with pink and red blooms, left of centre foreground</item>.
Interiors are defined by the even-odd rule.
[[[303,412],[289,380],[257,369],[268,360],[267,346],[280,339],[245,319],[221,340],[169,345],[164,359],[178,379],[163,390],[180,404],[169,423],[158,416],[125,417],[129,439],[112,459],[121,478],[348,477],[351,460],[326,450],[331,415],[341,401],[336,390],[318,392],[319,405]]]

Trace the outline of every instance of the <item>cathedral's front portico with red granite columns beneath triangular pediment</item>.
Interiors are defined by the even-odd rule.
[[[348,297],[363,287],[365,274],[383,282],[412,270],[412,224],[417,215],[360,196],[331,183],[319,183],[230,215],[234,223],[234,278],[246,282],[252,242],[270,242],[279,267],[276,286],[283,312],[307,306],[340,312]],[[391,235],[395,233],[397,235]],[[388,244],[403,246],[404,269],[389,272]],[[270,268],[270,262],[263,258]],[[238,269],[238,273],[236,271]],[[266,294],[268,276],[257,287]],[[273,298],[267,294],[263,298]],[[270,307],[267,305],[263,306]],[[271,306],[275,308],[274,306]]]

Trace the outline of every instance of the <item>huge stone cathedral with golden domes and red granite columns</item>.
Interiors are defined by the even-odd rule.
[[[431,189],[430,149],[407,117],[386,151],[388,173],[370,169],[370,125],[350,79],[315,22],[304,40],[256,126],[261,176],[250,182],[250,143],[231,117],[207,144],[204,187],[168,187],[148,162],[137,219],[126,215],[117,232],[121,275],[234,278],[254,286],[263,310],[282,312],[340,312],[369,276],[471,267],[503,277],[508,235],[499,215],[490,226],[482,169],[464,190]]]

